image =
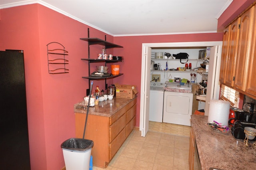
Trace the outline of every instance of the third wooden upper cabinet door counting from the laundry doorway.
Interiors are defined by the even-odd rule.
[[[246,90],[246,81],[248,78],[248,59],[250,54],[250,42],[252,40],[253,18],[254,6],[241,16],[234,87],[242,91]]]

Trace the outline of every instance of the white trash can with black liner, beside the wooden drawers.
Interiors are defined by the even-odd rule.
[[[66,170],[89,170],[92,140],[70,138],[61,144]]]

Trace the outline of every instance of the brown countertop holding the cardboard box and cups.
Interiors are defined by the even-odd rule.
[[[102,102],[99,102],[98,105],[90,106],[88,114],[94,114],[98,116],[106,116],[110,117],[116,112],[118,112],[121,108],[126,106],[129,102],[131,102],[133,99],[124,99],[124,98],[116,98],[114,97],[112,100],[104,100]],[[86,114],[87,108],[82,108],[78,106],[77,104],[74,104],[74,112],[76,113],[84,113]]]

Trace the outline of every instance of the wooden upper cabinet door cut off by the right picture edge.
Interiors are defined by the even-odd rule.
[[[248,83],[246,92],[256,96],[256,12],[254,14],[254,24],[252,33],[252,46],[251,55],[249,60],[249,70],[248,70]]]

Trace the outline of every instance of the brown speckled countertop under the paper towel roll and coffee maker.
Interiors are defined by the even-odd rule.
[[[245,146],[244,140],[229,134],[220,134],[205,125],[208,116],[192,115],[194,131],[202,170],[210,167],[222,170],[255,170],[256,147],[253,142]]]

